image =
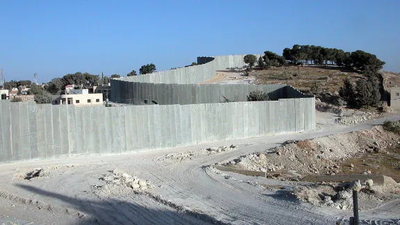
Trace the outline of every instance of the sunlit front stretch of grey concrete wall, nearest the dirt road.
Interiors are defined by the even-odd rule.
[[[0,163],[310,131],[314,107],[314,98],[119,108],[1,100]]]

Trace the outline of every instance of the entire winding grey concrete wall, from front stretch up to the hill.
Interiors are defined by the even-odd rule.
[[[257,57],[259,57],[258,55]],[[0,101],[0,163],[110,154],[315,129],[315,98],[288,85],[196,85],[244,55],[111,80],[111,100],[142,106],[52,106]],[[272,101],[246,101],[263,90]],[[234,102],[222,103],[224,97]],[[147,102],[147,103],[145,103]]]

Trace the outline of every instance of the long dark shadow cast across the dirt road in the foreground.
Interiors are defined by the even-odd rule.
[[[49,192],[30,185],[16,184],[33,194],[40,194],[45,197],[58,199],[72,205],[75,210],[85,213],[76,225],[83,224],[224,224],[215,218],[197,212],[190,212],[191,215],[183,211],[168,210],[167,206],[162,205],[165,210],[140,206],[138,203],[110,199],[109,201],[90,201],[68,197],[65,194]],[[45,210],[45,209],[43,209]],[[66,213],[66,212],[65,212]]]

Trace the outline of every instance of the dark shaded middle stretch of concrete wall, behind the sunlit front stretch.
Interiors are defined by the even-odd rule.
[[[145,101],[159,105],[221,103],[224,102],[224,97],[231,101],[247,101],[247,95],[253,90],[262,90],[271,100],[313,97],[284,84],[180,85],[111,80],[111,86],[111,101],[131,105],[143,105]]]

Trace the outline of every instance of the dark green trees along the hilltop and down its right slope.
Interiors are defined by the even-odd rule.
[[[283,49],[282,56],[265,51],[264,56],[256,58],[254,55],[244,56],[244,63],[253,67],[256,63],[261,69],[271,66],[280,67],[283,65],[336,65],[338,67],[351,67],[365,75],[360,78],[354,86],[349,79],[344,80],[339,95],[351,107],[379,106],[381,92],[378,78],[378,71],[383,68],[385,62],[379,60],[374,54],[357,50],[345,52],[342,49],[324,48],[314,45],[294,44],[292,49]],[[313,90],[314,89],[314,90]],[[319,87],[312,88],[316,94]]]

